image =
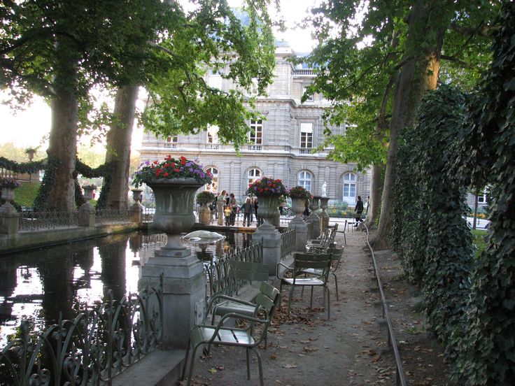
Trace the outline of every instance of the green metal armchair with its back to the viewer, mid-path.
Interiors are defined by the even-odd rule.
[[[279,267],[283,266],[286,271],[283,273],[283,277],[278,274]],[[320,269],[322,274],[316,277],[306,277],[304,269]],[[282,294],[283,285],[290,285],[290,292],[288,293],[288,315],[290,315],[290,307],[292,302],[292,292],[295,287],[311,287],[311,299],[309,301],[309,310],[313,309],[313,287],[323,287],[324,290],[324,301],[325,294],[327,293],[327,318],[330,318],[330,293],[327,287],[327,279],[329,278],[329,272],[331,269],[331,254],[310,254],[310,253],[299,253],[293,254],[293,266],[286,266],[282,262],[277,264],[276,275],[281,280],[279,291]],[[292,272],[292,278],[285,278],[284,274],[288,271]]]

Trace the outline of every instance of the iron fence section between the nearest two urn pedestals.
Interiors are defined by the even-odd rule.
[[[227,256],[218,259],[215,262],[204,264],[204,271],[207,276],[208,289],[206,290],[206,305],[212,296],[219,294],[233,296],[237,291],[246,284],[245,280],[235,280],[229,276],[230,260],[239,260],[241,262],[263,262],[263,245],[255,243],[247,248],[235,248]]]

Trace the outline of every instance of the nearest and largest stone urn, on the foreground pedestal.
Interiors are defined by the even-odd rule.
[[[167,244],[161,251],[171,257],[189,255],[190,252],[181,243],[180,235],[190,231],[195,224],[192,210],[195,193],[204,184],[195,178],[160,178],[147,185],[152,188],[155,196],[154,227],[168,236]]]

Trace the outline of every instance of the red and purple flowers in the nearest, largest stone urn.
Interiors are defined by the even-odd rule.
[[[211,183],[211,173],[202,170],[202,165],[196,164],[185,157],[175,159],[168,155],[164,161],[143,162],[134,172],[132,185],[139,187],[155,180],[172,178],[195,178],[202,184]]]

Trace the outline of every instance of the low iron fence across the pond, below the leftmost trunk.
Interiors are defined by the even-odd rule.
[[[23,210],[20,213],[20,231],[78,227],[78,212],[36,212]]]

